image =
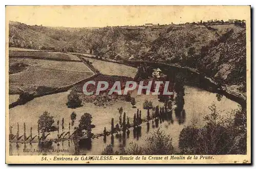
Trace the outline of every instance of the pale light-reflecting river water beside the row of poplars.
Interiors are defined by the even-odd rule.
[[[180,131],[187,125],[190,125],[192,121],[194,123],[196,122],[198,126],[204,125],[203,117],[210,112],[208,106],[210,106],[212,103],[216,104],[216,107],[221,111],[222,116],[227,116],[232,109],[236,109],[238,107],[238,103],[227,99],[225,96],[223,96],[221,101],[218,101],[216,94],[188,86],[185,86],[184,100],[185,111],[181,114],[181,116],[176,116],[175,112],[173,111],[172,118],[169,118],[169,120],[165,120],[161,123],[159,121],[158,125],[156,123],[153,124],[152,121],[149,123],[149,126],[147,126],[147,123],[143,123],[141,125],[141,132],[139,134],[134,134],[133,130],[130,129],[129,135],[125,133],[125,135],[117,137],[116,134],[114,134],[114,139],[111,139],[111,135],[109,135],[106,137],[105,142],[103,137],[94,138],[92,139],[91,143],[84,143],[80,145],[80,153],[99,155],[104,148],[111,143],[114,145],[114,151],[118,150],[122,146],[129,147],[131,142],[137,143],[139,146],[144,146],[144,139],[151,136],[152,132],[158,128],[173,138],[173,146],[176,150],[179,150],[178,141]],[[52,143],[51,146],[45,147],[38,146],[38,143],[10,143],[10,154],[73,155],[74,143],[72,141],[65,141],[60,143]]]

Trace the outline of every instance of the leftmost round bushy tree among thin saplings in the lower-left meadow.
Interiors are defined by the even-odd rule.
[[[45,111],[37,121],[38,129],[49,132],[53,123],[53,116],[50,116],[50,114],[48,114],[48,112]]]

